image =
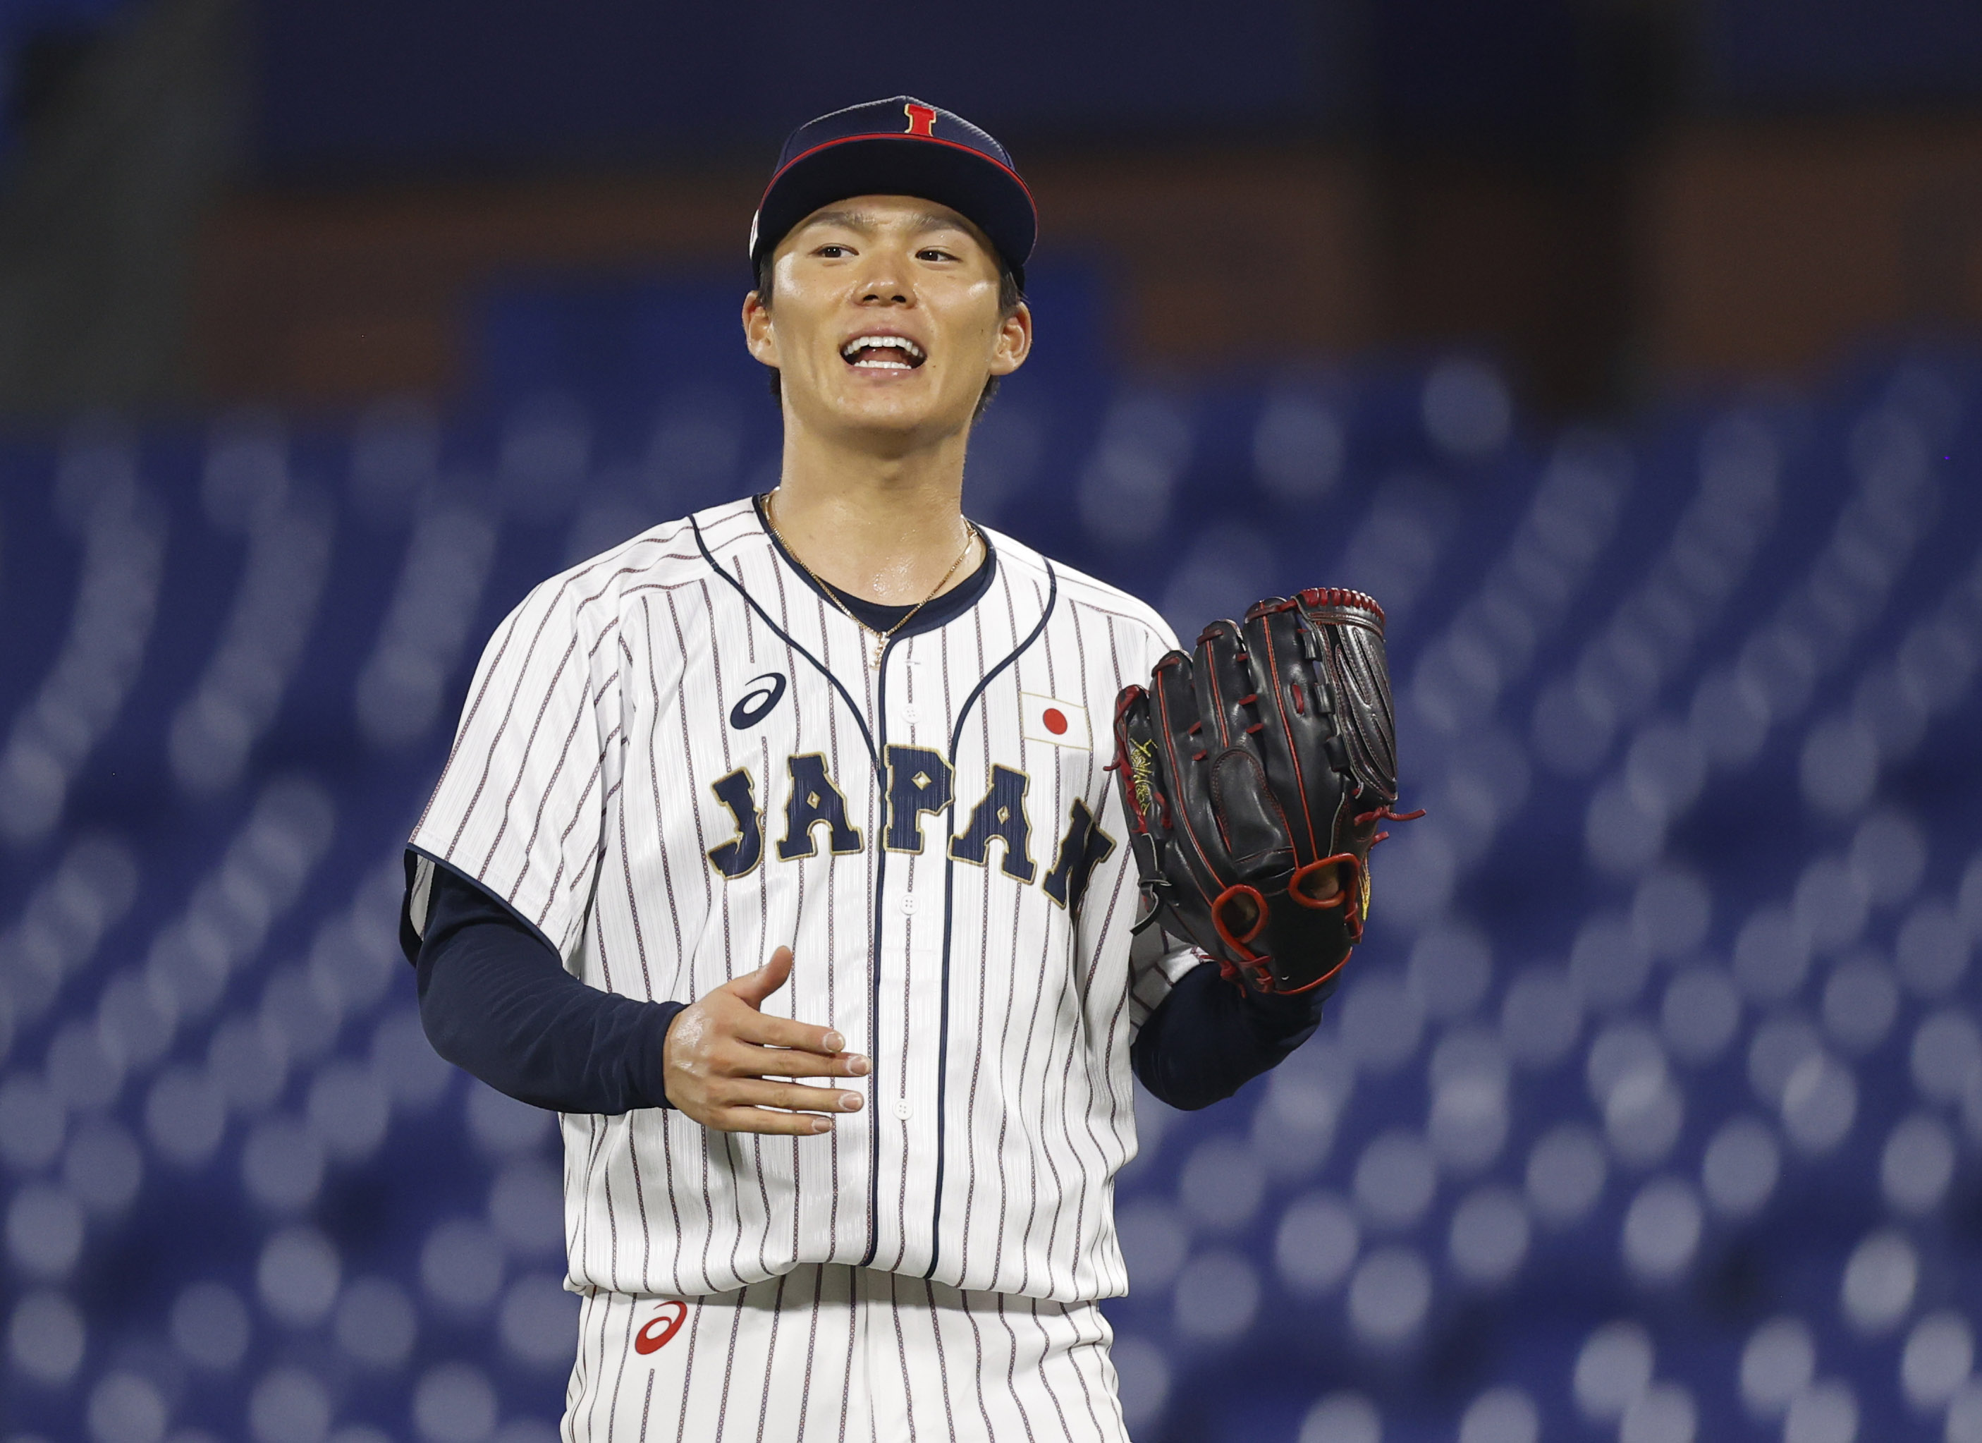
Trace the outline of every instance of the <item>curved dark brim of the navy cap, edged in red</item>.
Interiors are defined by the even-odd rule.
[[[809,214],[848,196],[920,196],[949,206],[985,232],[1025,283],[1025,262],[1039,234],[1025,182],[981,151],[916,135],[852,135],[793,157],[771,176],[757,206],[751,262]]]

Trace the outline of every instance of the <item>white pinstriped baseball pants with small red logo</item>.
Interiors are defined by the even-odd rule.
[[[680,1302],[593,1292],[563,1439],[1128,1443],[1110,1340],[1092,1302],[834,1263]]]

